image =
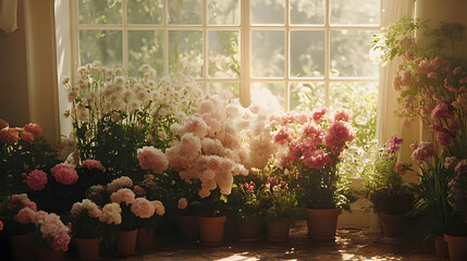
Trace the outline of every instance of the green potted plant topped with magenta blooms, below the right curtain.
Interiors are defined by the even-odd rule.
[[[415,200],[414,186],[402,178],[409,166],[397,160],[402,142],[402,138],[393,136],[388,147],[372,151],[373,163],[361,173],[365,196],[380,216],[386,237],[401,236],[404,215]]]

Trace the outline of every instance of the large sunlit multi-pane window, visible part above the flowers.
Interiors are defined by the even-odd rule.
[[[380,29],[380,0],[73,4],[74,60],[81,64],[100,60],[137,74],[148,63],[158,76],[183,71],[207,91],[230,90],[245,105],[349,109],[357,100],[377,100],[378,65],[368,51]],[[365,121],[365,113],[356,114]]]

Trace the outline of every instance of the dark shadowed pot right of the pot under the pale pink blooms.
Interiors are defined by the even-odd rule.
[[[238,241],[259,241],[265,238],[266,222],[261,219],[245,221],[235,219],[235,238]]]

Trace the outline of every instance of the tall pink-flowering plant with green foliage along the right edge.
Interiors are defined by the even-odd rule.
[[[465,28],[460,24],[442,24],[430,29],[423,21],[401,20],[373,41],[385,60],[402,58],[394,88],[400,91],[401,115],[408,124],[422,120],[432,134],[430,141],[411,147],[411,159],[420,170],[419,197],[411,211],[428,217],[430,234],[462,229],[458,213],[447,202],[448,182],[454,169],[450,159],[467,154],[467,62],[456,53]],[[415,38],[431,37],[428,45]],[[464,189],[465,192],[466,189]]]

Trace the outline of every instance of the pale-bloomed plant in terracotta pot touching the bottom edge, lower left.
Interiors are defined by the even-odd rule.
[[[72,234],[79,258],[95,260],[99,257],[102,241],[103,223],[100,221],[102,211],[89,199],[73,204]]]

